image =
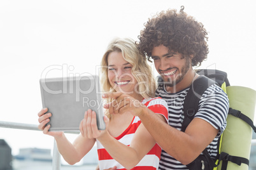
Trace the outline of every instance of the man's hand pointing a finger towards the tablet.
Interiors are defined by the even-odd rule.
[[[132,115],[139,116],[143,112],[143,109],[146,108],[139,100],[121,92],[106,93],[103,95],[103,98],[114,99],[104,105],[104,108],[108,109],[110,114],[124,114],[125,112],[129,112]]]

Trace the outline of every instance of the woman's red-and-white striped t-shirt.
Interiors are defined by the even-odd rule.
[[[168,122],[168,107],[166,101],[161,98],[148,98],[143,100],[141,103],[146,105],[150,110],[152,110],[156,114],[162,114],[166,118],[166,122]],[[118,136],[117,139],[121,143],[129,146],[132,141],[132,136],[136,132],[136,129],[141,124],[139,117],[135,116],[132,119],[131,124],[125,131]],[[141,161],[132,169],[139,170],[155,170],[159,167],[159,160],[162,149],[159,145],[155,144],[153,148],[148,152],[148,154],[141,159]],[[101,143],[97,140],[97,152],[99,156],[99,169],[108,169],[113,166],[117,166],[117,169],[125,169],[121,164],[119,164],[116,160],[114,160],[110,154],[106,151],[106,149],[101,145]],[[125,154],[125,153],[124,153]]]

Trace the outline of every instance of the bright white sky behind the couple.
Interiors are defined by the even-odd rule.
[[[181,5],[209,32],[210,54],[200,68],[224,70],[232,85],[256,89],[255,1],[0,1],[0,121],[38,124],[39,79],[47,67],[68,68],[49,77],[95,74],[113,37],[138,40],[148,18]],[[53,147],[39,131],[0,128],[0,138],[13,154]]]

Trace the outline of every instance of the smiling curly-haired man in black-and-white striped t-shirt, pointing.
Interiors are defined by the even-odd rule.
[[[229,101],[217,85],[211,85],[199,101],[199,110],[181,131],[183,122],[183,101],[192,82],[199,77],[192,69],[207,58],[208,37],[202,23],[188,16],[181,7],[162,11],[145,24],[139,36],[139,50],[152,59],[155,69],[161,75],[156,96],[167,101],[169,125],[146,107],[138,105],[136,114],[146,129],[162,147],[159,169],[188,169],[205,148],[210,156],[217,156],[217,142],[226,127]],[[122,103],[127,95],[106,94],[115,101],[106,105],[113,113],[132,112],[129,103]],[[127,99],[126,99],[127,101]],[[118,103],[118,104],[117,104]]]

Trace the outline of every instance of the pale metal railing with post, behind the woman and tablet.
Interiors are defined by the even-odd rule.
[[[0,121],[0,128],[13,128],[13,129],[24,129],[24,130],[32,130],[32,131],[40,131],[38,129],[38,125],[36,124],[23,124],[18,122],[4,122]],[[68,132],[73,133],[73,132]],[[77,134],[76,132],[74,132]],[[256,145],[256,139],[252,140],[252,146]],[[52,157],[52,169],[53,170],[60,170],[60,153],[57,148],[56,141],[54,140],[53,144],[53,157]]]

